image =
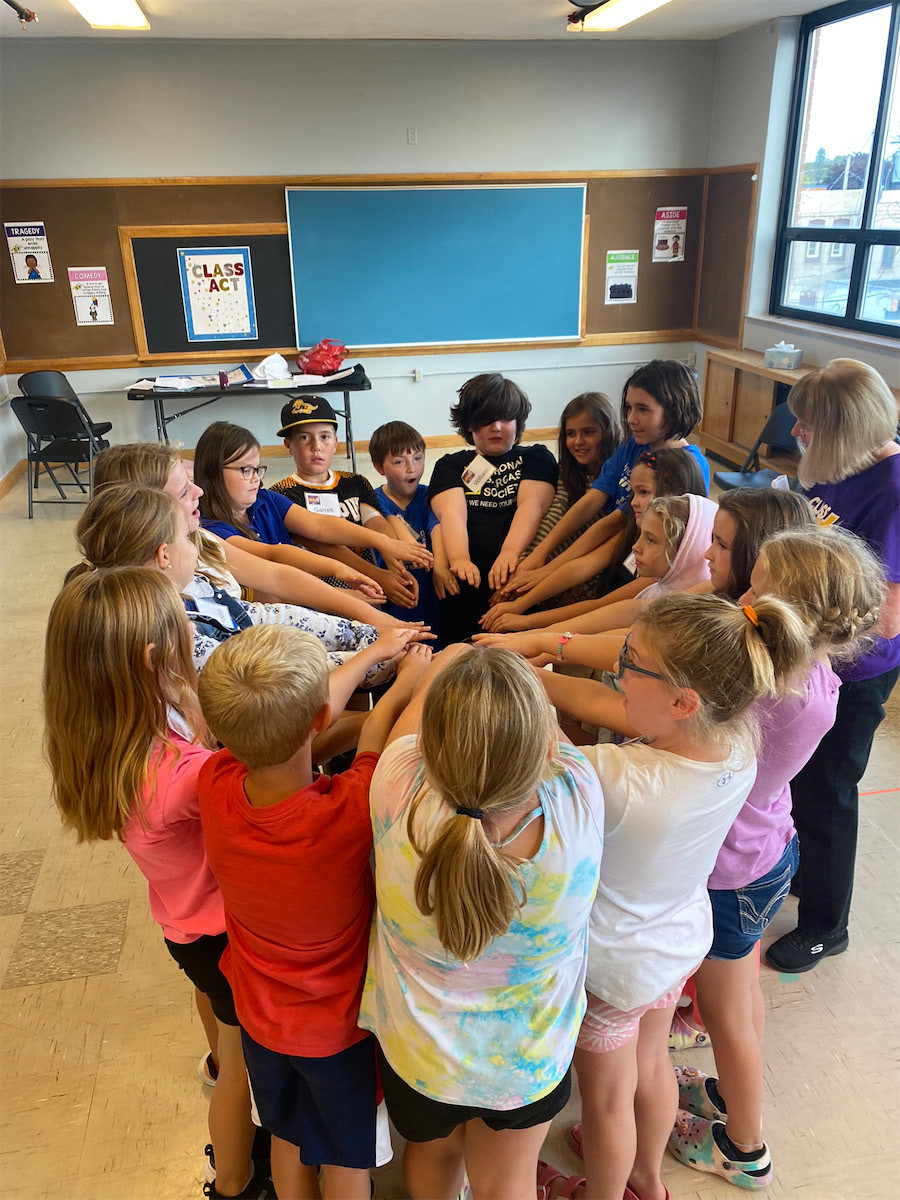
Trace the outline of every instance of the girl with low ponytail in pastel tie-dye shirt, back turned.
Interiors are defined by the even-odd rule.
[[[570,1093],[602,798],[536,674],[438,655],[371,787],[376,928],[360,1025],[380,1044],[410,1196],[534,1193]]]

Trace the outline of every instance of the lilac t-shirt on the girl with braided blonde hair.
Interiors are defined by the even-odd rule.
[[[794,835],[790,781],[834,725],[840,679],[816,662],[799,695],[761,700],[754,708],[762,748],[756,782],[719,851],[707,887],[744,888],[767,875]]]

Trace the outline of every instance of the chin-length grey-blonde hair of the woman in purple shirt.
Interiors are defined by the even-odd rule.
[[[838,484],[871,467],[896,434],[896,401],[882,377],[856,359],[832,359],[796,383],[791,412],[812,431],[797,468],[804,487]]]

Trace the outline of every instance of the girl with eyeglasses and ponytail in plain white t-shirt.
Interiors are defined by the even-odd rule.
[[[769,596],[743,608],[658,596],[622,648],[624,710],[640,737],[582,748],[605,802],[575,1051],[587,1182],[544,1164],[546,1196],[668,1198],[660,1168],[678,1100],[668,1028],[712,942],[707,878],[756,775],[751,706],[809,660],[805,624]]]

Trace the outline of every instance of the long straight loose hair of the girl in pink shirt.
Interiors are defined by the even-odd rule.
[[[44,754],[56,806],[79,841],[114,838],[140,814],[154,746],[168,744],[167,706],[204,732],[191,655],[184,606],[158,572],[95,570],[56,596],[43,668]]]

